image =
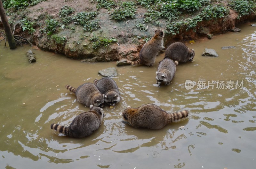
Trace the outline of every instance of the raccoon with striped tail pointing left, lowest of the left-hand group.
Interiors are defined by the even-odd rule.
[[[99,129],[103,116],[102,108],[91,105],[89,112],[76,116],[68,127],[52,123],[51,129],[69,137],[84,138]]]

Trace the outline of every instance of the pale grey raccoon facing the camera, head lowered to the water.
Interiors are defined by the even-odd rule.
[[[158,69],[156,71],[156,84],[160,86],[162,82],[165,85],[169,85],[172,78],[174,77],[175,71],[176,71],[176,65],[178,65],[179,62],[164,58],[158,66]]]

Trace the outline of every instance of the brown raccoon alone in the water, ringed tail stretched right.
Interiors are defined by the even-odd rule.
[[[145,104],[138,108],[128,106],[121,114],[122,122],[135,128],[162,129],[168,123],[178,121],[188,116],[188,111],[166,113],[154,104]]]

